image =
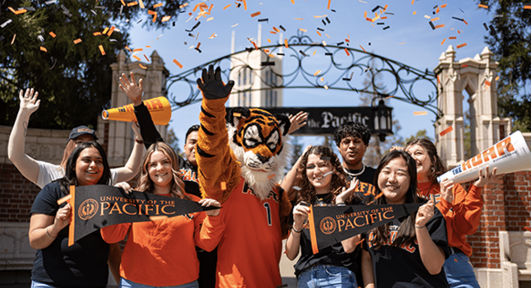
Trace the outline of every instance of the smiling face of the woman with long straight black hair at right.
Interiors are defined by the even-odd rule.
[[[378,187],[387,204],[404,204],[409,184],[406,160],[402,157],[390,160],[378,174]]]

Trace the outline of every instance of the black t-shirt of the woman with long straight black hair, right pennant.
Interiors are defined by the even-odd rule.
[[[406,217],[395,219],[389,225],[390,239],[394,240],[401,221]],[[446,234],[446,222],[439,209],[435,208],[433,217],[426,223],[431,239],[448,258],[449,248]],[[446,275],[441,268],[437,275],[431,275],[424,266],[418,244],[394,247],[387,244],[379,249],[369,248],[371,234],[363,241],[363,249],[369,251],[372,258],[374,284],[376,288],[447,288]]]

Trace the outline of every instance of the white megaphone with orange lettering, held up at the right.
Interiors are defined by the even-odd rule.
[[[496,174],[506,174],[531,169],[531,153],[520,131],[494,144],[482,153],[466,160],[463,164],[437,177],[437,181],[448,179],[463,183],[477,179],[478,171],[497,167]]]

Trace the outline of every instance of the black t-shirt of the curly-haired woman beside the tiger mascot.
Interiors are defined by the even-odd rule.
[[[327,197],[325,197],[327,198]],[[329,197],[330,199],[330,197]],[[330,202],[330,201],[328,201]],[[315,203],[317,204],[317,203]],[[293,215],[292,215],[293,216]],[[318,253],[314,254],[312,250],[312,241],[310,240],[310,228],[305,227],[301,233],[301,257],[299,257],[295,264],[295,275],[299,276],[303,270],[310,268],[313,265],[335,265],[347,267],[356,272],[358,265],[354,261],[356,258],[356,250],[352,253],[345,252],[341,242],[333,244],[329,247],[321,249]]]

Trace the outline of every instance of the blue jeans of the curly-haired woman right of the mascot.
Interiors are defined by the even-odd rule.
[[[304,270],[297,279],[298,288],[357,287],[356,276],[350,269],[333,265],[316,265]]]

